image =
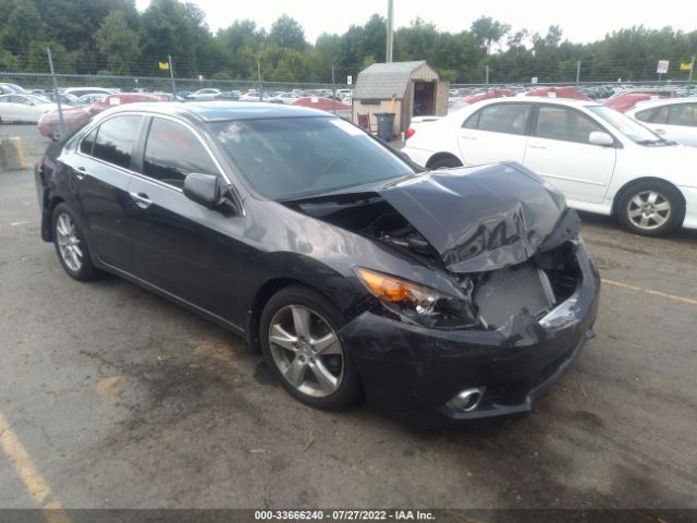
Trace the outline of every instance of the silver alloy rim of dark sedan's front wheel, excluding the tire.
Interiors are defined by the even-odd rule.
[[[269,326],[269,346],[281,375],[299,392],[326,398],[341,386],[343,349],[319,313],[304,305],[279,309]]]

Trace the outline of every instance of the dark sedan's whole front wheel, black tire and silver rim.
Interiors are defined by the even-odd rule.
[[[261,351],[271,372],[296,400],[338,411],[360,396],[358,374],[337,335],[341,314],[303,285],[280,290],[260,318]]]

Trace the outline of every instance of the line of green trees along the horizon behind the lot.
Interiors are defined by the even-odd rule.
[[[215,34],[194,3],[152,0],[138,12],[134,0],[0,0],[0,71],[56,70],[64,74],[158,76],[172,56],[179,77],[345,83],[384,61],[384,19],[374,14],[344,34],[322,34],[311,44],[302,25],[282,14],[267,31],[237,20]],[[559,26],[546,34],[513,31],[482,16],[458,33],[420,19],[394,34],[394,60],[428,60],[444,80],[460,83],[655,80],[660,59],[671,60],[663,80],[686,80],[697,52],[697,31],[634,26],[589,44],[571,42]]]

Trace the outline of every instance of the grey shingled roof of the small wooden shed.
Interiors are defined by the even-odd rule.
[[[426,60],[416,62],[374,63],[358,74],[353,99],[390,99],[396,96],[404,98],[412,74]]]

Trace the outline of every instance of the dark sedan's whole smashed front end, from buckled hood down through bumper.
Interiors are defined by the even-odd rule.
[[[423,284],[365,260],[371,305],[341,330],[369,403],[438,425],[525,412],[592,335],[599,277],[563,196],[516,165],[417,174],[286,203],[390,245]],[[433,281],[445,282],[437,285]]]

